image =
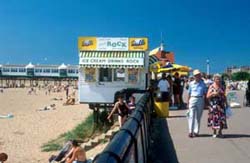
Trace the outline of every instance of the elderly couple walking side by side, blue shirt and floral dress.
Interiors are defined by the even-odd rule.
[[[208,110],[207,126],[212,130],[212,137],[224,137],[222,130],[227,129],[226,84],[219,74],[202,78],[199,70],[193,71],[193,80],[188,85],[188,136],[199,136],[203,110]]]

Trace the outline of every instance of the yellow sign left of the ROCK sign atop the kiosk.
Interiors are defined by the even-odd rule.
[[[97,38],[96,37],[79,37],[78,49],[81,50],[96,50]]]

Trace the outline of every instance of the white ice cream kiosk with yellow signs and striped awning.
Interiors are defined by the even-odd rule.
[[[117,91],[145,91],[148,39],[79,37],[79,99],[90,109],[112,107]]]

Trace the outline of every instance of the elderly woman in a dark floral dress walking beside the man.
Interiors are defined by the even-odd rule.
[[[212,128],[213,137],[223,137],[222,130],[227,129],[225,114],[227,102],[220,80],[220,75],[214,75],[214,83],[207,91],[208,127]]]

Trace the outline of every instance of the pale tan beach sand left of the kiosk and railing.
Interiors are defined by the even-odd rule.
[[[27,92],[26,88],[11,88],[0,93],[0,115],[14,116],[0,119],[0,152],[8,154],[7,163],[47,163],[49,156],[58,152],[41,152],[41,146],[73,129],[91,113],[87,105],[63,106],[65,92],[50,95],[45,95],[44,90],[37,90],[37,95]],[[38,111],[51,104],[56,105],[55,110]],[[104,147],[105,144],[100,145],[94,152],[87,152],[87,156],[94,157]]]

